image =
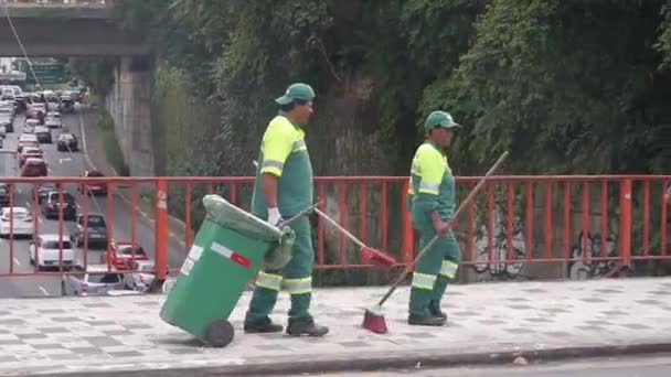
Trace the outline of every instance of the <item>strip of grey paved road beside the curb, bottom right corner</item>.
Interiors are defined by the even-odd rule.
[[[460,367],[425,369],[419,366],[415,369],[406,370],[384,370],[370,373],[338,373],[319,374],[303,376],[320,377],[382,377],[382,376],[404,376],[412,374],[420,377],[439,376],[460,376],[460,377],[563,377],[563,376],[585,376],[585,377],[665,377],[671,370],[671,355],[651,355],[647,357],[619,357],[619,358],[589,358],[578,360],[565,360],[558,363],[541,365],[501,365],[491,367]],[[163,376],[171,376],[166,374]],[[193,376],[205,376],[194,374]]]

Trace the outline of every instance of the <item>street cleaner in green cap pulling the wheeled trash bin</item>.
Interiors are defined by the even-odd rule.
[[[292,84],[275,101],[279,114],[270,121],[260,144],[252,212],[279,226],[312,205],[312,165],[303,128],[312,114],[315,91],[307,84]],[[289,225],[296,231],[290,261],[280,271],[260,271],[245,316],[246,333],[276,333],[283,326],[269,317],[284,286],[291,297],[287,334],[322,336],[329,332],[310,314],[315,249],[307,216]]]

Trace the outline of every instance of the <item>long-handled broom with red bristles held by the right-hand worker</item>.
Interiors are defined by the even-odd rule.
[[[487,172],[487,174],[484,174],[484,176],[480,180],[480,182],[478,182],[478,184],[470,191],[470,193],[468,194],[466,200],[464,200],[464,202],[461,202],[461,204],[459,205],[459,207],[452,215],[452,218],[450,218],[450,220],[448,222],[448,224],[447,224],[448,228],[451,227],[452,220],[459,215],[459,213],[461,213],[464,211],[466,205],[473,200],[476,194],[480,191],[480,187],[482,187],[482,185],[484,184],[484,181],[487,180],[487,177],[490,176],[499,168],[499,165],[501,165],[501,163],[503,163],[503,160],[505,160],[507,157],[508,157],[508,152],[503,152],[503,154],[501,154],[501,157],[493,164],[493,166],[491,166],[491,169]],[[384,297],[382,297],[382,299],[377,302],[377,304],[371,309],[366,309],[365,314],[363,316],[363,323],[362,323],[363,328],[370,330],[373,333],[377,333],[377,334],[384,334],[387,332],[386,321],[384,320],[384,313],[382,312],[382,305],[392,295],[392,293],[394,293],[396,288],[398,288],[398,284],[401,284],[403,282],[403,280],[405,280],[407,274],[413,271],[415,265],[417,265],[417,261],[419,259],[422,259],[422,257],[424,257],[424,255],[436,244],[436,241],[438,241],[438,237],[440,237],[440,236],[441,236],[440,234],[437,234],[436,236],[434,236],[434,238],[432,238],[432,240],[419,251],[419,254],[417,255],[417,257],[415,258],[413,263],[407,266],[405,268],[405,270],[403,271],[403,273],[401,273],[398,279],[396,279],[394,281],[394,283],[392,284],[390,290],[384,294]]]

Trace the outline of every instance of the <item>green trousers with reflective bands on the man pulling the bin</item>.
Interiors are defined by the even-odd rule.
[[[291,216],[286,216],[290,218]],[[312,266],[315,249],[307,217],[294,220],[289,226],[296,231],[294,254],[280,271],[262,271],[256,280],[245,323],[267,321],[277,302],[277,294],[284,287],[291,297],[290,319],[312,320],[310,301],[312,299]]]

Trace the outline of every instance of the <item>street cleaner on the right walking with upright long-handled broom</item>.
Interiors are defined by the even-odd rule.
[[[415,266],[408,324],[441,326],[447,314],[440,300],[461,261],[459,244],[447,222],[455,212],[455,177],[444,149],[461,128],[445,111],[432,112],[424,122],[427,140],[417,148],[411,170],[409,201],[413,224],[420,233],[420,248],[436,234],[441,237]]]

